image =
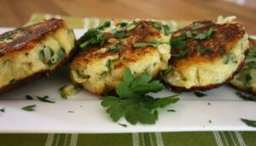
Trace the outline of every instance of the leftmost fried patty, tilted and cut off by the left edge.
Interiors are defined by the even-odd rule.
[[[64,20],[45,20],[0,35],[0,93],[60,67],[74,45],[73,30]]]

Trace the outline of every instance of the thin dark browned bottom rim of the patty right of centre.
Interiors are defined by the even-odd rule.
[[[213,88],[221,87],[222,85],[224,85],[225,82],[228,82],[228,81],[232,80],[233,76],[235,76],[241,70],[243,65],[244,65],[244,62],[241,62],[241,64],[239,65],[238,69],[226,81],[224,81],[223,83],[210,84],[210,85],[201,86],[201,87],[198,87],[198,86],[197,87],[190,87],[190,88],[177,87],[177,86],[173,86],[173,85],[167,84],[167,83],[165,83],[165,86],[167,88],[169,88],[169,89],[172,89],[174,92],[177,92],[177,93],[211,90]]]

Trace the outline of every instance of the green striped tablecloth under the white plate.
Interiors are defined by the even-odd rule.
[[[26,25],[58,15],[33,14]],[[99,19],[76,19],[63,16],[72,28],[93,27]],[[189,21],[167,20],[172,30]],[[0,121],[1,124],[1,121]],[[119,134],[0,134],[0,146],[256,146],[256,132],[150,132]]]

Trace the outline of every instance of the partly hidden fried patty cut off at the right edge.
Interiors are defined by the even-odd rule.
[[[245,64],[229,82],[232,87],[256,95],[256,41],[250,39],[250,49],[247,52]]]

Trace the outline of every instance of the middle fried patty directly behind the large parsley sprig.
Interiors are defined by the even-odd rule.
[[[166,25],[154,20],[136,20],[121,26],[115,21],[104,31],[105,43],[86,48],[70,64],[70,76],[90,93],[113,91],[122,81],[125,68],[137,77],[148,72],[156,76],[166,70],[171,57],[170,34]],[[131,26],[135,26],[131,30]],[[130,28],[130,30],[128,30]],[[107,31],[106,31],[107,30]],[[115,31],[123,30],[125,36],[117,38]],[[142,43],[161,42],[157,46]],[[136,46],[135,44],[141,44]]]

